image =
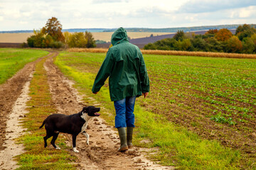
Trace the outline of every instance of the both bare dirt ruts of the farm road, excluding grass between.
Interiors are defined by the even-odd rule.
[[[53,58],[56,55],[58,55],[57,52],[51,52],[47,56],[48,59],[44,67],[47,71],[50,92],[58,113],[73,114],[81,111],[85,105],[100,106],[100,103],[95,103],[93,98],[90,104],[82,103],[82,96],[73,88],[73,82],[65,78],[53,64]],[[23,117],[26,113],[24,105],[28,100],[26,95],[31,81],[30,75],[39,60],[26,64],[6,84],[0,85],[0,169],[15,169],[17,167],[16,162],[8,162],[8,160],[23,152],[22,146],[14,145],[14,139],[22,133],[22,129],[18,126],[18,117]],[[135,147],[125,153],[117,152],[119,147],[117,132],[108,126],[102,118],[92,118],[88,125],[90,127],[87,130],[90,135],[90,145],[86,145],[85,136],[78,135],[77,148],[80,153],[74,153],[70,149],[70,154],[75,154],[78,157],[78,162],[75,163],[78,164],[78,169],[174,169],[171,166],[159,166],[150,162],[142,154],[144,149]],[[71,135],[63,135],[63,137],[71,146]],[[6,161],[4,161],[2,158],[7,153],[9,157],[6,157]]]

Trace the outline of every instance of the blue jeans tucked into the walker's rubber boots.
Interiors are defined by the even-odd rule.
[[[116,116],[114,119],[115,128],[126,128],[134,126],[134,104],[136,96],[127,97],[120,101],[114,101]]]

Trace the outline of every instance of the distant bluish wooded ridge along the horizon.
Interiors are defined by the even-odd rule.
[[[256,28],[256,24],[249,24],[253,28]],[[196,26],[196,27],[178,27],[178,28],[125,28],[128,32],[149,32],[149,33],[176,33],[178,30],[183,30],[184,32],[198,31],[198,30],[210,30],[210,29],[222,29],[228,28],[229,30],[234,30],[242,26],[242,24],[233,25],[220,25],[220,26]],[[91,33],[97,32],[114,32],[117,28],[70,28],[63,29],[63,32],[68,31],[70,33],[75,32],[85,32],[89,31]],[[33,30],[7,30],[0,31],[0,33],[33,33]]]

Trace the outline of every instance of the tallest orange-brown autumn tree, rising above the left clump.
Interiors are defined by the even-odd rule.
[[[62,33],[62,25],[58,18],[52,17],[48,19],[46,26],[42,28],[43,33],[50,35],[53,40],[64,42],[65,38]]]

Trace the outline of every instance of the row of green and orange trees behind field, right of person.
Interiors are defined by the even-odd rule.
[[[183,50],[204,52],[256,53],[256,29],[244,24],[238,26],[235,35],[227,28],[210,29],[204,35],[184,33],[178,30],[173,38],[149,43],[145,50]]]

